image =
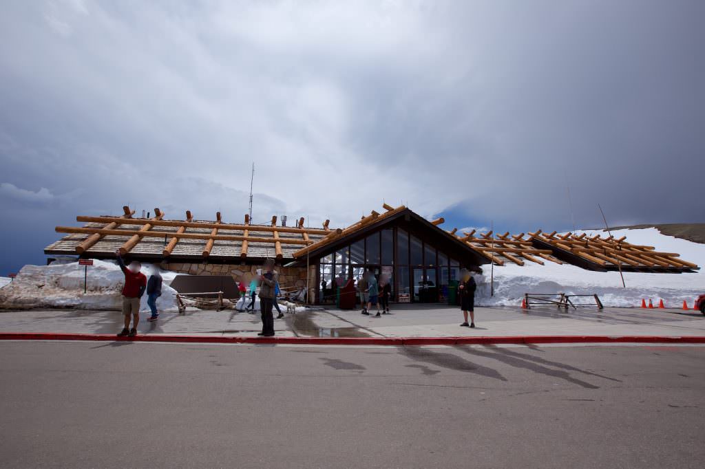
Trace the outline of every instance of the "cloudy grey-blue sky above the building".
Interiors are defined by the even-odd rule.
[[[705,2],[0,4],[0,275],[75,215],[705,221]],[[570,188],[570,201],[568,200]],[[572,205],[572,215],[570,206]]]

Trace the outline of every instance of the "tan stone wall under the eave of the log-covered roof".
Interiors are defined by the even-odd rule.
[[[249,284],[252,277],[257,275],[257,269],[262,268],[262,265],[162,263],[161,268],[164,270],[173,270],[174,272],[188,273],[191,275],[231,275],[235,280],[243,280],[245,284]],[[274,270],[279,273],[280,287],[286,288],[306,286],[305,267],[282,267],[281,265],[277,265]],[[310,273],[312,275],[310,285],[313,286],[316,283],[316,270],[314,266],[311,266]]]

